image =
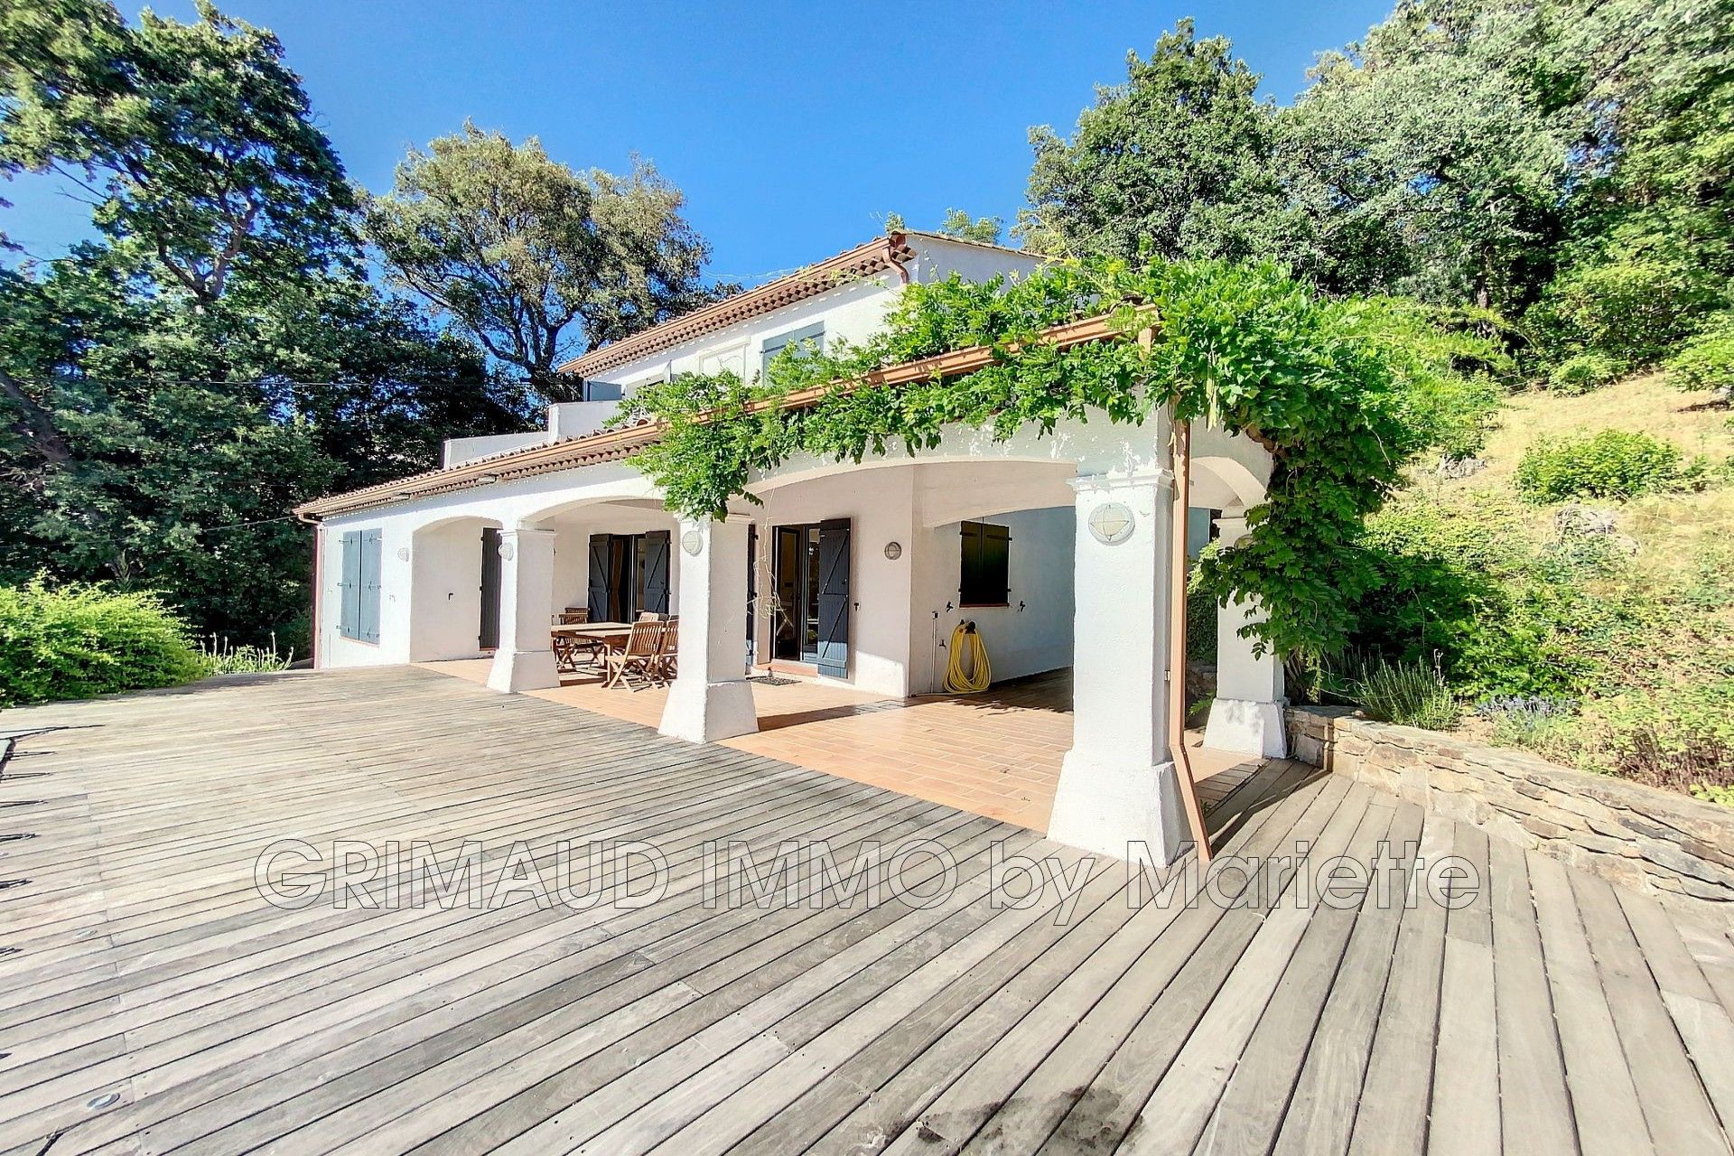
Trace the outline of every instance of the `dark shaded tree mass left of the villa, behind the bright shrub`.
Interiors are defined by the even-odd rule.
[[[241,277],[206,308],[134,288],[104,246],[0,279],[0,367],[57,442],[0,406],[5,579],[154,588],[199,629],[288,640],[310,567],[290,506],[522,425],[480,350],[366,283]]]

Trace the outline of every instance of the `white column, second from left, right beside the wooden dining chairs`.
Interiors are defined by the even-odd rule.
[[[680,655],[662,707],[664,735],[716,742],[758,730],[747,674],[747,520],[676,530]]]

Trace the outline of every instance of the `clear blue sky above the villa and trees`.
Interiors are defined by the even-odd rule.
[[[140,0],[121,0],[128,17]],[[154,0],[187,19],[192,0]],[[350,177],[390,184],[411,144],[468,116],[538,135],[569,165],[654,159],[714,246],[711,276],[749,284],[829,257],[900,211],[1007,222],[1027,132],[1068,130],[1125,52],[1193,14],[1287,102],[1313,55],[1391,0],[1295,3],[638,3],[581,0],[227,0],[283,38]],[[87,210],[49,179],[0,185],[0,231],[55,257]]]

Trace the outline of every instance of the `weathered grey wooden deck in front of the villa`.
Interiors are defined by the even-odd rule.
[[[0,1153],[1729,1151],[1725,927],[1294,764],[1217,789],[1228,851],[1418,841],[1477,898],[1302,906],[1288,863],[1134,908],[1098,861],[1056,925],[987,899],[995,842],[1085,863],[1033,832],[420,671],[0,731],[47,724],[0,782]],[[283,837],[638,839],[669,887],[284,910]],[[957,863],[931,906],[702,899],[707,841],[907,837]]]

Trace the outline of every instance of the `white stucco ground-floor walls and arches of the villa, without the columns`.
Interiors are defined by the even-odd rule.
[[[770,527],[825,518],[855,523],[850,678],[864,690],[903,695],[938,686],[945,660],[936,641],[948,640],[962,617],[980,624],[997,678],[1065,666],[1070,655],[1065,608],[1075,601],[1072,553],[1065,541],[1073,516],[1066,480],[1079,473],[1160,468],[1167,461],[1165,444],[1160,421],[1144,428],[1061,423],[1053,437],[1032,430],[1006,442],[959,428],[914,459],[893,451],[864,466],[810,458],[789,461],[770,477],[753,480],[765,506],[742,501],[735,508],[759,525],[761,589],[768,589]],[[1195,444],[1200,447],[1198,506],[1231,508],[1243,501],[1245,478],[1261,468],[1268,471],[1259,458],[1262,451],[1245,438],[1198,430]],[[1014,527],[1011,607],[968,614],[955,608],[959,520]],[[479,617],[479,593],[473,591],[480,584],[484,522],[501,529],[555,530],[555,608],[584,601],[591,532],[668,529],[678,549],[675,518],[661,510],[649,480],[623,463],[331,518],[323,534],[319,662],[364,666],[473,653]],[[378,645],[336,634],[345,529],[381,530]],[[898,560],[884,556],[893,541],[903,548]],[[411,582],[413,574],[416,582]],[[678,556],[671,582],[671,594],[678,598]],[[947,601],[954,603],[950,614],[943,614]],[[1025,603],[1021,612],[1020,601]],[[938,622],[935,610],[942,612]],[[761,631],[768,631],[763,615]],[[768,638],[761,638],[759,655],[768,650]]]

